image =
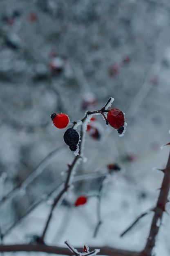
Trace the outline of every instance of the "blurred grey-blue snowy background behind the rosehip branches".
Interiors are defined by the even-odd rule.
[[[128,123],[124,137],[97,116],[101,138],[87,134],[88,161],[77,169],[77,175],[97,175],[109,163],[122,167],[105,180],[98,235],[93,238],[96,198],[74,207],[78,195],[97,193],[100,178],[85,177],[56,207],[46,241],[143,248],[153,213],[123,238],[120,234],[155,205],[163,174],[152,168],[164,168],[168,158],[168,147],[160,147],[170,141],[169,13],[168,0],[0,1],[1,198],[59,149],[36,178],[0,202],[2,234],[16,223],[5,243],[25,243],[30,235],[41,235],[51,202],[65,180],[63,171],[74,158],[64,146],[66,129],[52,126],[50,115],[64,112],[71,121],[78,120],[86,109],[100,109],[114,97],[112,106],[125,112]],[[97,102],[83,109],[89,94]],[[170,255],[169,229],[170,218],[164,214],[154,249],[157,256]]]

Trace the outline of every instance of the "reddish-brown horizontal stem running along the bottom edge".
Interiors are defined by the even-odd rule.
[[[90,247],[94,250],[96,247]],[[77,248],[78,252],[82,248]],[[46,252],[49,254],[73,255],[69,249],[65,247],[40,245],[40,244],[21,244],[21,245],[0,245],[0,252]],[[139,256],[139,252],[130,252],[111,247],[101,247],[99,254],[107,256]]]

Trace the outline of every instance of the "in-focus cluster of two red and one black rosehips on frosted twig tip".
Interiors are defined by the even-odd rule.
[[[66,128],[69,124],[72,124],[72,128],[69,128],[66,130],[64,134],[64,141],[65,143],[69,146],[70,150],[72,152],[75,152],[78,149],[78,143],[80,141],[80,135],[76,131],[76,128],[78,125],[85,125],[86,126],[86,131],[88,132],[91,127],[89,127],[88,122],[92,121],[88,117],[92,117],[92,115],[103,115],[105,118],[106,124],[112,126],[116,130],[118,130],[118,133],[120,136],[123,135],[124,129],[126,126],[125,123],[125,117],[124,113],[119,110],[118,108],[112,108],[110,110],[107,110],[107,108],[111,105],[113,102],[113,98],[110,98],[109,101],[105,104],[105,106],[101,110],[96,110],[96,111],[88,111],[86,112],[85,117],[83,117],[82,120],[80,121],[74,121],[70,122],[69,117],[66,114],[52,114],[51,115],[51,121],[53,122],[54,126],[56,126],[59,129]],[[111,102],[111,103],[110,103]]]

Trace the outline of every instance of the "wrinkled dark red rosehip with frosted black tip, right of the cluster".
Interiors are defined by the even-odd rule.
[[[125,117],[121,110],[118,108],[112,108],[107,113],[107,121],[113,128],[117,129],[119,134],[121,134],[124,130]]]

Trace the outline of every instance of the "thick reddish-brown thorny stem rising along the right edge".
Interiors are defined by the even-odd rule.
[[[167,202],[169,190],[170,190],[170,154],[168,157],[168,162],[167,162],[165,174],[163,177],[163,182],[160,189],[159,198],[157,201],[157,206],[154,211],[154,216],[152,219],[148,240],[140,256],[151,255],[152,249],[155,245],[155,239],[159,231],[162,215],[163,215],[163,212],[165,211],[165,205]]]

